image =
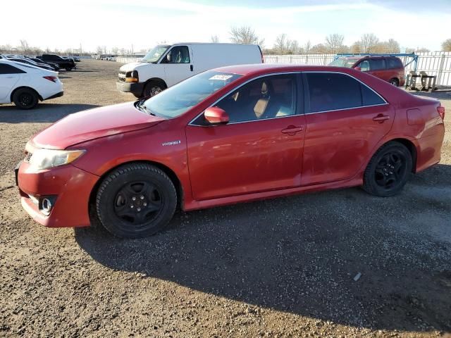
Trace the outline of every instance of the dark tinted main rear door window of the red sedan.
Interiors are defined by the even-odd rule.
[[[362,106],[360,82],[338,73],[306,73],[310,113]]]

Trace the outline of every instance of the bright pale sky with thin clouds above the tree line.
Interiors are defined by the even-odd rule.
[[[20,13],[20,15],[8,15]],[[2,1],[0,45],[25,39],[42,49],[150,49],[161,42],[230,42],[230,27],[252,27],[265,46],[285,33],[303,45],[365,33],[402,47],[440,50],[451,38],[451,0],[21,0]]]

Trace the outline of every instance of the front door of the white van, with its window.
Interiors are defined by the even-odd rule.
[[[173,46],[161,63],[164,65],[168,87],[194,75],[192,54],[188,46]]]

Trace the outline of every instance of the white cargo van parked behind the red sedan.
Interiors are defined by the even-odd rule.
[[[257,44],[160,44],[141,62],[123,65],[116,87],[136,97],[154,96],[204,70],[247,63],[263,63]]]

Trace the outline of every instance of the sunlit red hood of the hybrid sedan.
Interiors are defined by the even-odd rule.
[[[162,120],[139,111],[134,102],[104,106],[66,116],[35,135],[31,143],[39,148],[66,149],[91,139],[151,127]]]

